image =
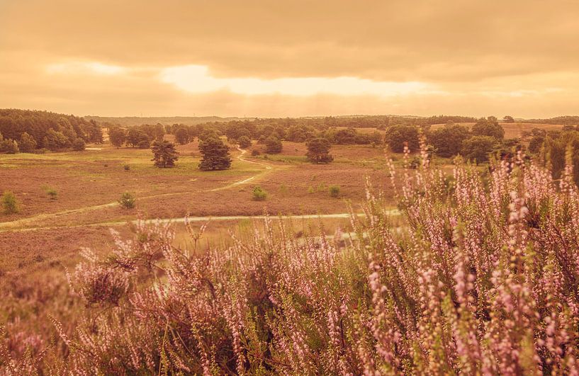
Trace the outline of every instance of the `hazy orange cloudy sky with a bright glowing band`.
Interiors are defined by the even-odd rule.
[[[0,0],[0,108],[579,114],[579,0]]]

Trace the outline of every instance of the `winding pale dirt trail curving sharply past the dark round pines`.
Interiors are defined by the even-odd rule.
[[[143,196],[143,197],[137,198],[137,201],[138,200],[147,200],[150,198],[167,197],[167,196],[172,196],[172,195],[184,195],[186,193],[203,193],[203,192],[213,192],[215,190],[225,190],[225,189],[233,188],[235,186],[239,186],[240,184],[249,183],[249,181],[253,181],[255,178],[262,176],[265,173],[268,173],[270,171],[274,171],[274,167],[276,167],[276,169],[283,167],[281,165],[280,166],[273,166],[273,165],[266,164],[263,162],[249,161],[249,160],[243,158],[243,155],[247,152],[246,150],[240,149],[240,147],[237,147],[237,150],[239,150],[241,152],[241,154],[237,156],[238,160],[252,163],[252,164],[258,164],[259,166],[264,166],[265,169],[263,171],[260,171],[259,173],[255,174],[254,176],[251,176],[249,178],[244,178],[240,181],[235,181],[234,183],[227,184],[226,186],[223,186],[223,187],[206,189],[206,190],[195,190],[195,191],[187,190],[184,192],[159,193],[157,195],[148,195],[148,196]],[[26,226],[26,224],[30,224],[31,222],[37,222],[37,221],[41,221],[41,220],[50,220],[51,218],[58,218],[58,217],[62,217],[63,215],[71,215],[71,214],[89,212],[91,210],[99,210],[99,209],[104,209],[106,207],[114,207],[116,205],[118,205],[117,202],[106,203],[106,204],[101,204],[101,205],[78,207],[75,209],[62,210],[60,212],[34,215],[33,217],[27,217],[27,218],[23,218],[21,220],[15,220],[15,221],[11,221],[11,222],[0,222],[0,232],[18,230],[18,229],[21,229],[23,226]],[[51,227],[30,227],[30,229],[40,229],[40,228],[51,228]]]

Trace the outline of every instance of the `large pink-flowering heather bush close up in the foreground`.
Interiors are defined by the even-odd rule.
[[[429,168],[405,174],[403,191],[391,188],[403,227],[390,227],[392,212],[369,194],[364,219],[352,217],[359,237],[345,243],[296,241],[266,220],[253,237],[201,253],[139,222],[140,241],[87,251],[70,275],[86,321],[66,337],[56,324],[66,339],[57,365],[103,375],[573,375],[579,193],[569,174],[557,182],[514,162],[485,179],[459,163],[451,182]]]

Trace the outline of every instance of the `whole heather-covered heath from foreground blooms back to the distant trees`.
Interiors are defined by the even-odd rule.
[[[523,130],[505,127],[505,137]],[[254,145],[257,156],[232,147],[231,169],[199,171],[197,141],[177,149],[172,169],[154,167],[149,149],[108,143],[0,154],[0,188],[21,205],[0,222],[7,374],[576,369],[575,297],[560,297],[576,290],[577,271],[560,259],[573,253],[541,240],[558,229],[573,241],[568,177],[552,181],[520,156],[491,162],[487,176],[488,164],[371,145],[333,145],[334,161],[318,165],[298,142],[269,155]],[[422,162],[409,169],[411,159]],[[254,186],[266,200],[252,199]],[[125,191],[135,208],[118,204]],[[529,210],[538,224],[522,220]],[[503,261],[521,254],[501,279]],[[570,273],[565,287],[539,287],[549,273]],[[515,294],[515,308],[500,289]],[[529,302],[525,289],[554,294],[561,309],[539,295]],[[500,316],[489,319],[490,307]],[[493,333],[514,319],[502,349]]]

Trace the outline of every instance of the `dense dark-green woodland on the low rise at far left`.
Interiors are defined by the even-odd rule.
[[[0,152],[84,149],[101,143],[101,127],[74,115],[47,111],[0,109]]]

